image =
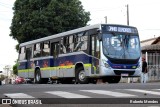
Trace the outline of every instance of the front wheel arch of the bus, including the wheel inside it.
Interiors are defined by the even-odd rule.
[[[89,82],[89,79],[85,75],[85,69],[82,63],[77,63],[75,65],[75,77],[76,82],[80,84],[87,84]]]

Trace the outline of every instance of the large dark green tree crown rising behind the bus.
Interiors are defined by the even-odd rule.
[[[19,43],[86,26],[90,20],[79,0],[16,0],[11,33]]]

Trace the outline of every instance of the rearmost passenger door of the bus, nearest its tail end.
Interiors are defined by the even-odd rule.
[[[32,64],[31,64],[31,56],[32,56],[32,48],[29,47],[26,49],[26,59],[27,59],[27,64],[26,64],[26,68],[27,68],[27,72],[25,74],[25,78],[29,78],[30,77],[30,74],[29,73],[32,73],[30,70],[32,69]]]

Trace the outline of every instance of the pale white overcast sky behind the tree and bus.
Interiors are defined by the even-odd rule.
[[[160,36],[160,0],[80,0],[85,11],[89,11],[89,25],[97,23],[127,25],[129,5],[129,23],[138,28],[140,40]],[[0,0],[0,68],[14,65],[18,58],[17,43],[9,36],[15,0]]]

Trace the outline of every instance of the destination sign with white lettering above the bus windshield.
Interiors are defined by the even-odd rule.
[[[102,26],[102,30],[110,32],[138,33],[136,28],[123,26]]]

